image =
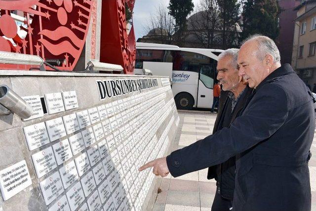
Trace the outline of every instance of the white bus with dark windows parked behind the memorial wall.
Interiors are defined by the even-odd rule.
[[[172,78],[172,92],[180,109],[211,108],[218,49],[179,48],[175,45],[136,42],[134,74],[143,69]]]

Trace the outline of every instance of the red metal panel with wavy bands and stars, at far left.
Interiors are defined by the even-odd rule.
[[[13,40],[0,37],[0,50],[64,60],[61,69],[73,70],[85,43],[91,8],[91,0],[0,0],[0,35]],[[24,12],[27,28],[17,29],[10,10]],[[19,37],[17,30],[26,31],[26,37]]]

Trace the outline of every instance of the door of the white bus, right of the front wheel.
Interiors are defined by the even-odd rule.
[[[212,107],[214,77],[214,65],[200,65],[197,88],[197,107]]]

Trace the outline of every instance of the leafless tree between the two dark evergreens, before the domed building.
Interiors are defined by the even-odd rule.
[[[211,48],[218,43],[217,36],[221,36],[217,0],[200,0],[196,8],[195,14],[189,18],[189,33],[202,47]]]

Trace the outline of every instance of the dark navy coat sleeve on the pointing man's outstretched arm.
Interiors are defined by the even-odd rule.
[[[181,176],[218,165],[268,139],[284,124],[288,115],[287,102],[287,95],[280,86],[262,86],[230,128],[168,155],[171,175]]]

